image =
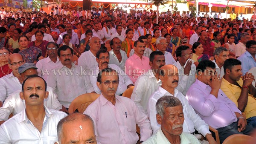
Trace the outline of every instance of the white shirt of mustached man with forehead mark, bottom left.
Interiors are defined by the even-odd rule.
[[[28,119],[25,108],[0,126],[0,144],[54,144],[58,141],[56,127],[67,114],[47,107],[44,109],[41,132]]]

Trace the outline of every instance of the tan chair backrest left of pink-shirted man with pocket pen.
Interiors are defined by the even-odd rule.
[[[97,98],[99,98],[99,94],[96,93],[86,93],[79,95],[71,102],[68,109],[69,114],[74,113],[76,109],[79,113],[84,113],[88,105],[95,101]]]

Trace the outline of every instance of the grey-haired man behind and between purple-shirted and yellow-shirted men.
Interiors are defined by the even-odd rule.
[[[212,62],[215,63],[216,72],[218,73],[218,75],[221,75],[222,78],[224,75],[223,65],[225,60],[227,60],[229,57],[229,51],[227,48],[218,47],[214,50],[213,55],[214,60],[212,60]]]

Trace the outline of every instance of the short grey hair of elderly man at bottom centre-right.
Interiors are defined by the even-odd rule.
[[[167,107],[176,107],[179,105],[182,106],[178,98],[171,95],[163,96],[157,100],[157,103],[156,103],[157,114],[163,118],[163,115],[165,114],[165,109]]]

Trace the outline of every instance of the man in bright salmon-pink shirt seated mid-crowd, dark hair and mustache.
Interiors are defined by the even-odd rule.
[[[131,81],[135,84],[136,80],[148,72],[149,58],[143,56],[145,51],[145,43],[143,40],[137,40],[134,42],[134,55],[129,57],[125,62],[125,73],[131,78]]]

